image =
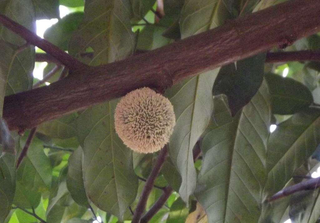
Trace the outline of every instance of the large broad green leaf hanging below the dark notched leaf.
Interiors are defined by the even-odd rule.
[[[202,167],[196,198],[209,222],[258,222],[267,181],[267,140],[271,120],[264,81],[242,111],[232,118],[224,95],[214,97],[214,114],[203,135]]]

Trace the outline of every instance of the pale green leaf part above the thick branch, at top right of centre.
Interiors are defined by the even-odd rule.
[[[226,5],[225,0],[186,1],[180,18],[181,38],[216,28],[231,19],[232,12]]]

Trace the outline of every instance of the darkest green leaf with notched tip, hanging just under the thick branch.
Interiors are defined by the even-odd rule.
[[[220,69],[212,92],[227,95],[232,116],[257,93],[263,80],[265,59],[265,53],[258,54]]]

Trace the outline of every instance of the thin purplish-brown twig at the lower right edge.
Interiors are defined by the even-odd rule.
[[[283,190],[274,194],[272,197],[269,197],[267,201],[274,201],[298,191],[312,190],[318,187],[320,187],[320,178],[312,178],[306,181],[302,181],[301,183],[298,183],[296,185],[285,187]]]

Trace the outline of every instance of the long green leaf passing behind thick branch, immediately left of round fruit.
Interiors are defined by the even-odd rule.
[[[132,54],[136,45],[132,17],[130,0],[85,1],[84,22],[72,37],[69,52],[79,57],[92,49],[91,65]],[[138,179],[133,171],[132,152],[114,129],[116,103],[114,100],[86,109],[78,118],[77,131],[84,152],[83,176],[88,198],[101,210],[122,219],[136,197]]]

